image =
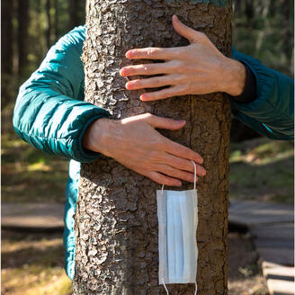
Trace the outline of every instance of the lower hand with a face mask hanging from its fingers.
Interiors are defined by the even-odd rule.
[[[203,162],[201,156],[155,129],[179,130],[185,121],[157,117],[150,113],[120,121],[98,119],[85,131],[83,147],[111,156],[122,165],[143,174],[156,183],[181,186],[181,180],[193,183],[194,167]],[[206,170],[197,166],[197,174]]]

